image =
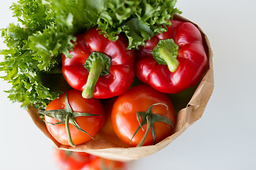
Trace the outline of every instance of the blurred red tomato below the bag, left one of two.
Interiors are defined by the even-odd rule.
[[[72,152],[55,149],[55,162],[61,170],[80,170],[91,161],[91,155],[85,152]]]

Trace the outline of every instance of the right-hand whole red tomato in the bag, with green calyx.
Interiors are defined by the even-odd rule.
[[[171,135],[176,123],[168,96],[146,84],[120,95],[112,108],[112,125],[120,140],[132,147],[154,145]]]

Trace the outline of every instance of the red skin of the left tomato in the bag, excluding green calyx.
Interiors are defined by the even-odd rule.
[[[75,126],[71,125],[70,123],[68,124],[73,144],[79,145],[87,142],[88,140],[91,140],[92,137],[94,137],[100,130],[105,120],[104,108],[100,100],[96,98],[82,98],[82,91],[72,89],[68,91],[67,98],[68,103],[74,112],[91,113],[95,115],[79,116],[77,118],[74,118],[75,122],[80,126],[80,128],[82,128],[82,130],[85,130],[85,132],[87,132],[89,135],[87,135],[85,132],[82,132],[81,130],[78,130],[78,128],[75,128]],[[67,106],[65,106],[65,94],[63,94],[60,96],[60,98],[51,101],[48,104],[46,111],[59,109],[63,110],[66,107]],[[73,115],[71,115],[71,118],[72,117]],[[52,125],[58,123],[59,120],[56,120],[55,118],[50,118],[47,115],[45,116],[45,121],[48,131],[55,138],[55,140],[60,142],[60,144],[70,146],[65,124]]]

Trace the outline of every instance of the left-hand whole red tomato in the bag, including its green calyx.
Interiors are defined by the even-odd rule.
[[[81,91],[70,90],[51,101],[45,115],[46,127],[60,144],[73,146],[91,140],[102,127],[105,114],[96,98],[82,98]]]

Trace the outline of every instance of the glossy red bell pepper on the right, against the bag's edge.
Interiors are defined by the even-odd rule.
[[[155,35],[145,47],[140,47],[135,64],[135,72],[141,81],[166,94],[176,94],[195,86],[208,68],[208,56],[198,28],[188,22],[173,20],[171,23],[166,32]],[[170,64],[174,68],[159,64],[151,53],[161,40],[171,39],[176,46],[162,48],[159,53],[174,55]]]

